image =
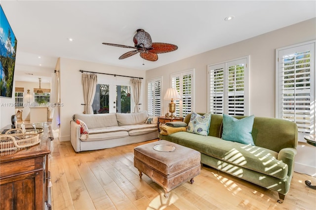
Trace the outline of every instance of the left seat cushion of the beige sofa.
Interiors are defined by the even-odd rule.
[[[96,141],[96,140],[111,140],[128,137],[127,131],[118,131],[110,133],[97,133],[97,134],[82,134],[80,135],[81,141]]]

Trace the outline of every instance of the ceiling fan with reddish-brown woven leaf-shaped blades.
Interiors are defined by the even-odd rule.
[[[133,48],[136,50],[129,51],[121,55],[118,59],[128,58],[132,55],[140,53],[140,57],[147,61],[157,61],[158,53],[167,53],[172,52],[178,49],[177,45],[161,43],[161,42],[152,42],[151,36],[145,32],[143,29],[138,29],[136,35],[133,38],[135,46],[127,46],[121,44],[111,44],[111,43],[102,43],[105,45],[115,46],[115,47],[125,47]]]

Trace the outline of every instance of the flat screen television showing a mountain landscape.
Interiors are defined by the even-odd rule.
[[[12,98],[16,37],[0,5],[0,97]]]

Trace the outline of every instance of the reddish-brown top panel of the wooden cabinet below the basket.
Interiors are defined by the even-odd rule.
[[[0,177],[12,176],[20,173],[43,169],[44,157],[19,160],[15,162],[1,163]]]

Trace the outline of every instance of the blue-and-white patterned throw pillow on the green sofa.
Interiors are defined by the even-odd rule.
[[[206,113],[203,116],[192,112],[187,132],[202,136],[207,136],[209,133],[209,125],[211,124],[211,113]]]

